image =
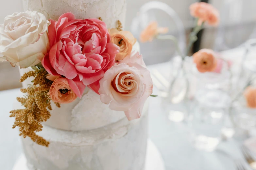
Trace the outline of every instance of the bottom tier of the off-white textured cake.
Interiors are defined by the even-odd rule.
[[[48,148],[23,138],[30,170],[143,170],[147,146],[147,114],[83,132],[45,126],[39,133]]]

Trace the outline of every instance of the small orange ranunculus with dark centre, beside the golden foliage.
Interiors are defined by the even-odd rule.
[[[67,78],[56,78],[47,95],[50,95],[52,101],[56,103],[71,103],[77,98],[70,88]]]

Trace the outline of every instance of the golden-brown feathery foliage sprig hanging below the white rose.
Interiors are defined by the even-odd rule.
[[[49,112],[49,110],[52,110],[51,99],[47,93],[53,82],[46,78],[48,73],[45,69],[32,68],[34,71],[25,73],[20,79],[20,82],[23,82],[29,77],[35,78],[32,85],[21,89],[21,92],[26,93],[26,95],[17,97],[18,102],[25,108],[10,111],[10,117],[15,117],[12,128],[18,126],[20,136],[24,138],[28,136],[37,144],[48,147],[49,142],[37,135],[36,132],[42,131],[41,123],[51,116]],[[56,103],[56,106],[60,107],[60,104]]]

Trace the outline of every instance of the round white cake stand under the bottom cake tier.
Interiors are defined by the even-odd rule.
[[[24,154],[21,154],[12,170],[29,170],[26,166],[26,157]],[[145,170],[165,170],[162,156],[150,139],[147,141]]]

